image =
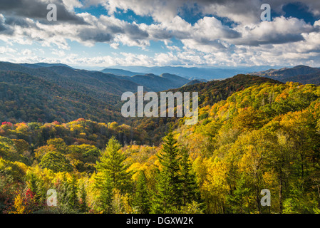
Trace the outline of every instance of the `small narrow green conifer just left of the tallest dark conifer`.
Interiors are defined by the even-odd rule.
[[[137,212],[140,214],[149,214],[150,212],[150,200],[147,183],[145,180],[145,172],[140,171],[133,204],[137,208]]]

